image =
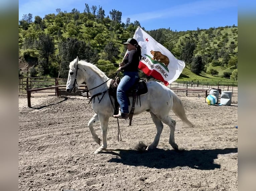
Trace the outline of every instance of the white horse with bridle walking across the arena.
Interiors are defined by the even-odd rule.
[[[114,98],[109,96],[109,79],[101,70],[95,65],[83,60],[78,60],[78,57],[72,61],[69,65],[69,77],[67,81],[66,91],[76,92],[79,86],[86,82],[88,90],[91,96],[94,96],[92,101],[94,116],[88,122],[88,127],[91,131],[92,138],[100,145],[100,138],[96,134],[93,124],[100,122],[102,133],[102,145],[94,152],[100,153],[107,149],[107,129],[109,117],[114,114],[112,102]],[[141,96],[141,104],[135,105],[134,114],[139,114],[143,111],[149,111],[153,122],[156,125],[156,135],[152,144],[147,147],[148,149],[156,148],[159,142],[159,138],[163,129],[163,123],[170,127],[169,143],[175,150],[178,150],[178,145],[174,141],[174,131],[176,121],[169,116],[170,110],[172,110],[186,125],[193,126],[193,124],[187,119],[184,106],[181,100],[175,95],[175,93],[169,88],[161,85],[158,82],[147,82],[148,93]],[[132,97],[129,97],[130,103],[132,103]],[[129,106],[129,110],[131,105]]]

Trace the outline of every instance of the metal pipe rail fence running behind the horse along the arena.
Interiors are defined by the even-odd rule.
[[[145,79],[144,79],[145,80]],[[159,81],[158,81],[159,82]],[[161,83],[161,82],[160,82]],[[19,77],[19,95],[27,94],[28,103],[30,103],[31,93],[52,93],[50,89],[55,89],[55,95],[74,95],[67,93],[65,88],[67,79],[57,78],[39,78],[39,77]],[[163,83],[162,83],[163,84]],[[81,88],[87,89],[85,83],[81,85]],[[207,97],[211,88],[220,89],[221,91],[231,91],[232,96],[238,96],[238,83],[237,82],[193,82],[193,81],[175,81],[167,86],[175,92],[188,93],[202,92]],[[47,91],[49,90],[49,91]],[[87,91],[87,97],[89,92]],[[81,95],[81,94],[75,94]]]

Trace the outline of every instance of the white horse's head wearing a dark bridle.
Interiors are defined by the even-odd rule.
[[[78,57],[69,65],[69,77],[66,85],[66,92],[77,92],[79,86],[84,82],[82,68],[79,68]]]

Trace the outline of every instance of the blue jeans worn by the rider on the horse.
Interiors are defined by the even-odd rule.
[[[126,92],[134,85],[138,79],[138,72],[124,72],[124,77],[121,79],[117,87],[117,101],[120,105],[121,113],[129,113],[128,97]]]

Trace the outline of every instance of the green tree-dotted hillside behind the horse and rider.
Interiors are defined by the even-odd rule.
[[[101,6],[95,14],[92,10],[80,13],[75,8],[70,13],[59,9],[56,12],[44,18],[35,16],[33,21],[32,15],[28,14],[19,21],[19,63],[35,61],[29,62],[31,76],[56,77],[60,72],[60,77],[65,78],[68,62],[76,56],[100,64],[101,70],[111,73],[116,68],[104,65],[122,60],[126,52],[122,43],[133,36],[137,26],[145,30],[139,21],[122,23],[121,11],[112,10],[106,16]],[[225,26],[194,31],[177,32],[169,28],[146,32],[177,59],[185,61],[186,68],[178,80],[203,80],[221,79],[224,72],[231,73],[237,68],[237,30],[237,26]],[[200,73],[195,72],[197,57],[201,57],[203,65]],[[211,75],[211,72],[218,74]],[[21,71],[20,75],[26,74]]]

